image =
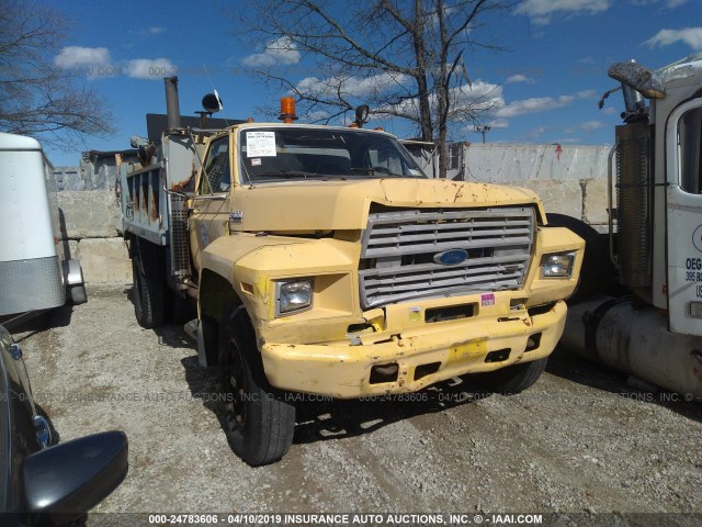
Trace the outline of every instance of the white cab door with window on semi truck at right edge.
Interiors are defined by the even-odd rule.
[[[668,317],[671,332],[702,335],[702,98],[666,127]]]

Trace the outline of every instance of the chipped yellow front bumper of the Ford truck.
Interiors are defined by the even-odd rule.
[[[338,399],[415,392],[453,377],[547,357],[563,334],[566,310],[558,301],[532,316],[430,324],[371,345],[264,343],[261,356],[269,382],[281,390]],[[398,366],[397,378],[372,381],[373,368],[385,365]]]

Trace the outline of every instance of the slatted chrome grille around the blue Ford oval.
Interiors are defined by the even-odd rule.
[[[363,307],[519,289],[533,233],[530,208],[370,214],[359,271]],[[457,265],[434,261],[434,256],[452,249],[467,251],[467,259]]]

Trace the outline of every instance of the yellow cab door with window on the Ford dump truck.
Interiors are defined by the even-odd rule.
[[[189,224],[190,246],[197,272],[203,250],[219,236],[229,233],[230,157],[228,133],[210,142],[192,200]]]

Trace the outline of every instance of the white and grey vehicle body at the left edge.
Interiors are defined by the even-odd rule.
[[[0,133],[0,315],[87,301],[61,243],[54,167],[32,137]]]

